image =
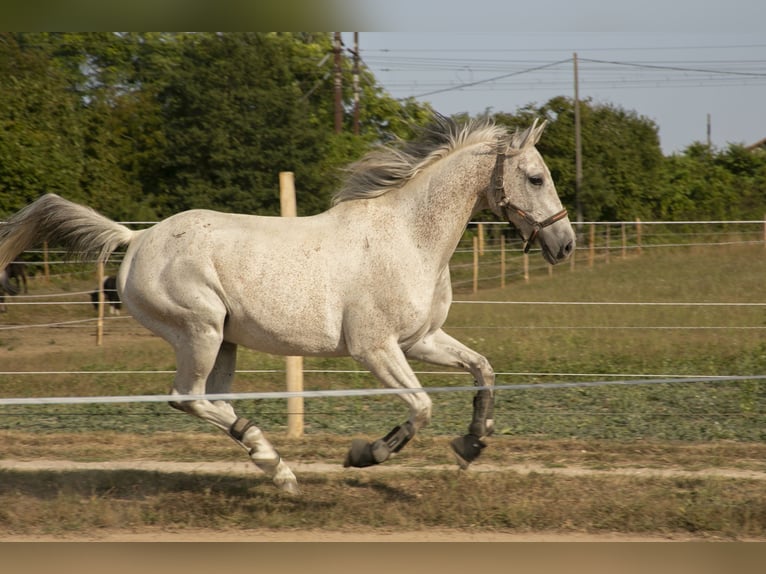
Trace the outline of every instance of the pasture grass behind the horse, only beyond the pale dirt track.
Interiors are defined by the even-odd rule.
[[[567,264],[553,276],[486,289],[458,300],[585,302],[763,302],[766,266],[762,246],[645,250],[590,268]],[[73,280],[51,290],[81,288]],[[92,316],[87,306],[17,307],[12,319],[41,323]],[[9,314],[10,315],[10,314]],[[9,317],[10,318],[10,317]],[[446,329],[485,354],[498,384],[609,379],[612,374],[759,375],[766,373],[763,307],[655,307],[577,305],[453,305]],[[126,325],[130,326],[126,326]],[[651,327],[664,327],[656,329]],[[686,327],[679,329],[678,327]],[[699,327],[706,327],[700,329]],[[709,327],[716,327],[710,329]],[[754,327],[741,329],[740,327]],[[53,329],[33,343],[20,331],[0,331],[4,370],[172,370],[169,346],[128,320],[107,323],[105,344],[93,344],[92,327],[80,345]],[[78,333],[75,333],[77,336]],[[72,335],[67,335],[69,338]],[[118,339],[119,337],[119,339]],[[30,347],[34,345],[34,349]],[[241,350],[240,369],[282,369],[284,361]],[[305,360],[306,369],[359,369],[349,359]],[[416,370],[443,370],[415,364]],[[505,373],[537,373],[513,375]],[[565,373],[555,376],[546,373]],[[585,373],[575,377],[571,373]],[[307,389],[377,387],[366,373],[307,373]],[[464,375],[422,375],[424,386],[470,385]],[[169,374],[4,375],[2,396],[164,394]],[[243,373],[235,391],[282,390],[283,375]],[[462,434],[471,396],[434,394],[426,435]],[[282,400],[240,401],[238,410],[265,430],[286,425]],[[377,434],[407,417],[395,397],[306,400],[306,432]],[[759,381],[679,383],[594,389],[507,390],[497,393],[499,434],[541,439],[762,441],[766,438],[766,385]],[[207,425],[164,404],[0,408],[0,429],[35,432],[158,430],[207,431]]]

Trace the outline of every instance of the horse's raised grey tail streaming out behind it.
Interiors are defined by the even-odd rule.
[[[0,223],[0,269],[44,241],[66,247],[80,258],[106,261],[137,233],[89,207],[49,193]]]

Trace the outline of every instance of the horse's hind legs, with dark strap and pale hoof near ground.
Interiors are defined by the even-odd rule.
[[[214,354],[214,356],[213,356]],[[178,370],[173,394],[227,393],[234,379],[237,346],[226,341],[202,345],[197,339],[177,353]],[[212,367],[211,367],[212,364]],[[207,373],[206,378],[204,373]],[[179,397],[180,398],[180,397]],[[176,401],[172,406],[217,426],[233,438],[250,455],[258,468],[272,478],[280,489],[297,494],[298,482],[279,453],[251,421],[238,417],[227,401]]]

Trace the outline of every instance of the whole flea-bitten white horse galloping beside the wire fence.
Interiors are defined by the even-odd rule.
[[[131,230],[53,194],[0,227],[0,269],[44,240],[106,260],[127,247],[117,288],[128,311],[176,354],[172,406],[222,429],[287,492],[295,475],[255,424],[224,401],[238,345],[268,353],[350,355],[387,387],[422,389],[415,359],[470,372],[478,392],[468,434],[452,442],[462,468],[493,430],[494,372],[442,330],[452,302],[449,261],[471,216],[489,208],[555,264],[575,235],[535,144],[489,121],[436,116],[423,137],[381,147],[349,168],[333,207],[298,218],[190,210]],[[398,395],[409,418],[373,442],[355,439],[345,466],[399,451],[431,418],[421,392]]]

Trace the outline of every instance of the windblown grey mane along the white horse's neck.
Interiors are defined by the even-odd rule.
[[[509,136],[505,127],[488,118],[459,124],[435,114],[433,123],[419,138],[381,146],[349,166],[343,186],[333,197],[333,205],[378,197],[398,189],[424,168],[466,146],[478,143],[496,146],[505,142],[508,148],[513,148],[514,144],[520,147],[525,139],[520,139],[518,134]]]

